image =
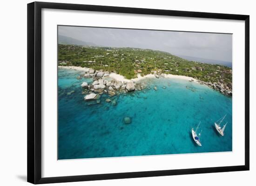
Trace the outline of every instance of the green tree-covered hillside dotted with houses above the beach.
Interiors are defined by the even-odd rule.
[[[232,70],[227,66],[188,61],[168,52],[139,48],[59,45],[59,65],[90,67],[115,72],[131,79],[154,73],[194,77],[232,87]]]

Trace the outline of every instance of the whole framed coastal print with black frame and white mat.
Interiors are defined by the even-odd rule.
[[[249,15],[27,5],[27,180],[249,170]]]

